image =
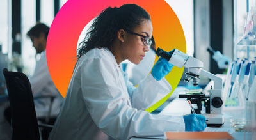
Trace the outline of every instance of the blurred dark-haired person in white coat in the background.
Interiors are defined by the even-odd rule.
[[[39,119],[45,118],[51,108],[50,117],[52,121],[55,121],[60,112],[63,97],[61,97],[61,94],[52,82],[47,66],[46,42],[48,33],[49,27],[43,23],[36,24],[27,33],[33,43],[33,47],[35,47],[36,54],[40,55],[40,59],[36,61],[34,74],[29,77],[29,81],[31,83],[34,98],[43,97],[35,100],[36,116]],[[52,107],[49,106],[51,105],[51,98],[44,98],[47,96],[54,97],[52,100]]]

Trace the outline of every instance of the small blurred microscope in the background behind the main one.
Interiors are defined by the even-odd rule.
[[[228,68],[231,59],[221,54],[220,51],[214,51],[212,47],[208,47],[207,51],[211,54],[212,58],[217,62],[219,68]]]

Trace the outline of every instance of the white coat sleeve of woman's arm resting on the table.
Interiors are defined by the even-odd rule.
[[[132,108],[118,80],[109,59],[92,58],[81,65],[81,98],[103,132],[114,139],[129,139],[136,135],[184,131],[182,116],[160,116]]]

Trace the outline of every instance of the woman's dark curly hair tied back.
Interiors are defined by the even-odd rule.
[[[143,20],[151,20],[146,10],[136,4],[120,8],[106,8],[93,21],[83,42],[79,44],[77,59],[93,48],[109,47],[120,29],[133,30]]]

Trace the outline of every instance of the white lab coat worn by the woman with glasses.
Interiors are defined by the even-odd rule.
[[[170,91],[166,80],[150,74],[129,95],[111,51],[92,49],[77,62],[49,139],[100,139],[100,130],[114,139],[184,131],[182,116],[143,111]]]

